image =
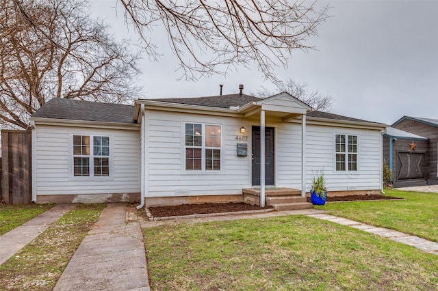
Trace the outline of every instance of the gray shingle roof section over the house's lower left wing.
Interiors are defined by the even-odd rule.
[[[132,105],[53,98],[32,117],[133,124]]]

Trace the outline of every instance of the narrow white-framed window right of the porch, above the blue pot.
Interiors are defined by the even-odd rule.
[[[357,171],[357,135],[336,135],[336,171]]]

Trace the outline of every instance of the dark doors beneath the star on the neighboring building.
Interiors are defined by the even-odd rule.
[[[398,153],[398,180],[424,178],[424,153]]]

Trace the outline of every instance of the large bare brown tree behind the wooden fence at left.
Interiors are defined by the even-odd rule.
[[[51,98],[127,102],[137,54],[81,0],[0,0],[0,123],[27,128]]]

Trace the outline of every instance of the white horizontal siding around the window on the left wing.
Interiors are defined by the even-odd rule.
[[[110,137],[110,176],[73,176],[73,135]],[[37,124],[36,183],[37,195],[140,193],[140,130]]]

